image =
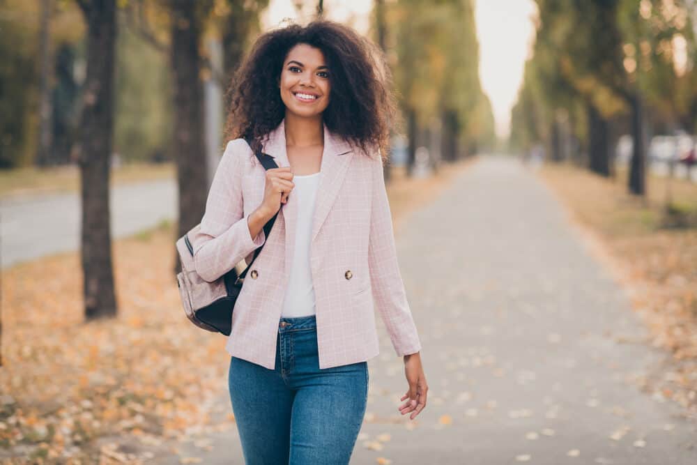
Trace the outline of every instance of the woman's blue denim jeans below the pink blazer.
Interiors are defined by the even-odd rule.
[[[276,347],[275,369],[230,359],[245,464],[348,464],[365,416],[367,361],[320,369],[314,315],[282,317]]]

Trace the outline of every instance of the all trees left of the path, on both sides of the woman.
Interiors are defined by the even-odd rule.
[[[86,319],[117,311],[109,226],[114,151],[168,153],[164,158],[177,168],[176,237],[197,224],[208,190],[202,81],[227,86],[267,6],[268,0],[4,1],[0,82],[16,93],[0,96],[0,164],[79,165]],[[322,1],[310,6],[325,13]],[[26,33],[22,22],[35,26]],[[454,160],[493,144],[473,0],[378,0],[373,26],[395,75],[411,162],[417,146]],[[210,38],[222,45],[222,70],[213,66]]]

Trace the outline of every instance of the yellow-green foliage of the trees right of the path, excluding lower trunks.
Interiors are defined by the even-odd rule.
[[[656,130],[696,130],[697,54],[688,3],[536,3],[535,47],[512,112],[515,146],[548,139],[560,109],[579,115],[579,107],[592,105],[605,118],[623,116],[635,95],[649,105]],[[535,121],[526,121],[530,115]],[[579,116],[576,121],[584,119]],[[585,136],[583,125],[572,132]]]

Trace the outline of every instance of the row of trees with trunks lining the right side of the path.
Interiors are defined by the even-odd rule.
[[[645,193],[647,141],[697,130],[694,0],[535,0],[537,33],[512,110],[511,142],[542,142],[610,176],[613,145],[633,140],[629,191]]]

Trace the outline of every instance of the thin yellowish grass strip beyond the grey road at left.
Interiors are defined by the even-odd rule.
[[[175,176],[175,168],[170,162],[128,163],[113,168],[110,176],[112,185],[171,179]],[[77,166],[0,170],[0,199],[78,191],[79,168]]]

